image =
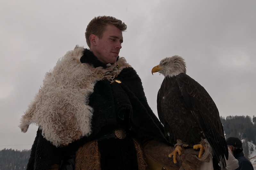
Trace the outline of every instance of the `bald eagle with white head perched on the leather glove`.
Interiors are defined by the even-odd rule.
[[[174,55],[160,61],[152,69],[164,75],[157,94],[157,112],[165,128],[169,142],[176,146],[177,152],[183,147],[200,147],[206,139],[212,148],[213,166],[226,167],[224,156],[228,159],[227,143],[219,117],[219,111],[207,91],[193,78],[186,75],[185,60]],[[202,151],[199,153],[199,158]],[[216,164],[215,164],[216,163]],[[219,167],[219,166],[217,166]]]

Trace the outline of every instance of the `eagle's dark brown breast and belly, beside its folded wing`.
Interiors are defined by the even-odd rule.
[[[157,96],[157,110],[171,144],[175,145],[177,139],[190,147],[201,142],[202,130],[181,95],[176,76],[163,80]]]

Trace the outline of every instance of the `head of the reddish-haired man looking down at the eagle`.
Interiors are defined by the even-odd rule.
[[[95,17],[86,28],[87,45],[100,61],[105,64],[114,63],[122,48],[122,32],[126,28],[125,23],[114,17]]]

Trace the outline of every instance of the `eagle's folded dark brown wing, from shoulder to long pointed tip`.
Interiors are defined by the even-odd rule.
[[[213,149],[214,157],[225,167],[224,155],[228,159],[228,149],[217,106],[202,85],[193,78],[181,73],[176,80],[186,104]]]

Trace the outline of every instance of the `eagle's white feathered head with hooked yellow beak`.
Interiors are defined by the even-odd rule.
[[[164,77],[177,76],[180,73],[186,73],[186,62],[178,55],[166,57],[152,69],[152,74],[155,72],[161,73]]]

